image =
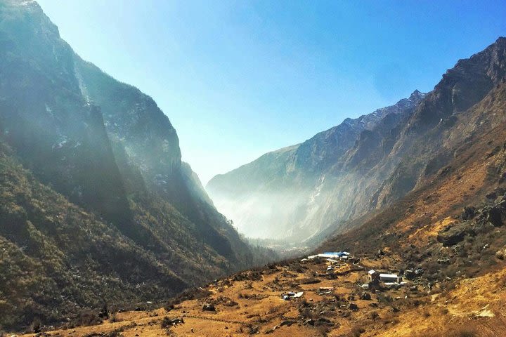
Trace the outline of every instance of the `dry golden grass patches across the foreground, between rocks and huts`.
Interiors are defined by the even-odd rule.
[[[386,259],[364,259],[361,263],[379,268],[390,263]],[[230,278],[226,282],[210,284],[207,286],[212,293],[210,296],[183,301],[169,312],[162,308],[149,312],[121,312],[115,314],[119,322],[106,321],[98,326],[48,333],[75,337],[122,331],[121,336],[150,337],[167,336],[167,331],[170,331],[170,336],[222,337],[250,336],[252,331],[258,330],[261,335],[270,331],[268,336],[290,337],[453,336],[450,333],[458,333],[469,322],[476,329],[475,336],[504,336],[500,331],[506,331],[506,269],[474,279],[462,279],[448,293],[422,291],[415,295],[407,293],[406,289],[384,291],[380,296],[387,296],[385,301],[378,294],[372,294],[372,300],[359,299],[360,291],[356,284],[366,281],[365,270],[351,271],[337,279],[318,277],[318,284],[297,285],[315,272],[323,273],[327,263],[306,263],[304,267],[307,267],[304,272],[287,272],[290,265],[278,268],[275,272],[264,272],[261,280],[257,281],[231,281]],[[349,265],[343,265],[338,270],[343,272],[350,269]],[[320,296],[316,293],[320,287],[333,287],[332,293]],[[303,290],[304,296],[291,301],[280,298],[281,293],[292,289]],[[408,299],[404,298],[406,294]],[[351,302],[358,305],[358,311],[340,308],[341,302],[335,300],[339,298],[344,300],[342,303],[349,303],[346,300],[349,296],[355,296]],[[391,298],[390,303],[388,298]],[[238,304],[226,305],[228,299]],[[203,303],[214,303],[216,312],[202,311]],[[309,314],[311,310],[299,309],[301,305],[312,308],[312,305],[322,303],[335,304],[335,310],[324,313],[313,311]],[[370,303],[377,303],[377,308],[370,306]],[[398,311],[393,308],[398,308]],[[314,315],[314,318],[327,317],[335,325],[304,324],[309,315]],[[164,317],[180,317],[185,323],[164,329],[161,324]],[[285,321],[292,324],[286,324]]]

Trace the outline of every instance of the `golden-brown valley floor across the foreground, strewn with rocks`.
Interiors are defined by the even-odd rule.
[[[434,285],[417,277],[399,289],[361,288],[370,268],[388,270],[398,260],[387,253],[338,263],[330,272],[327,260],[271,265],[208,284],[166,308],[23,336],[506,336],[504,266]],[[283,300],[288,291],[304,294]]]

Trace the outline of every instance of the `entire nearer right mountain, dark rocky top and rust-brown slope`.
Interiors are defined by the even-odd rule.
[[[395,241],[402,242],[396,249],[403,253],[415,247],[439,253],[441,243],[462,250],[469,236],[468,249],[500,248],[502,235],[486,237],[486,247],[477,241],[505,222],[505,98],[506,38],[500,37],[459,60],[403,124],[389,154],[401,160],[375,195],[382,209],[347,223],[350,230],[324,246],[370,250]],[[404,197],[389,201],[393,191],[408,190],[406,185],[412,188]],[[486,259],[474,257],[470,260]]]

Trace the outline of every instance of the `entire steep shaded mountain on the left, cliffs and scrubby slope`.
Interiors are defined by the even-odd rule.
[[[269,257],[216,211],[155,101],[79,58],[35,1],[0,1],[0,145],[0,325],[160,300]]]

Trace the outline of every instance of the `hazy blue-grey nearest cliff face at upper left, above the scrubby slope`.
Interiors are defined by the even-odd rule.
[[[72,49],[36,3],[7,2],[0,9],[4,138],[44,183],[124,223],[122,178],[100,107],[80,94]]]

